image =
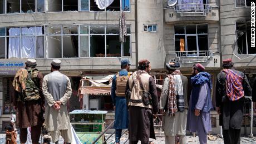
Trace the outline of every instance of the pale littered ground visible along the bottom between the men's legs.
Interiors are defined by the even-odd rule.
[[[107,137],[107,135],[106,135]],[[0,143],[5,143],[5,138],[6,138],[6,135],[4,134],[0,134]],[[121,143],[124,143],[126,141],[126,138],[127,138],[127,135],[125,135],[124,137],[121,138]],[[164,141],[164,137],[157,137],[156,140],[152,140],[155,144],[161,144],[161,143],[165,143]],[[115,142],[115,136],[112,136],[108,141],[107,143],[108,144],[114,144]],[[17,143],[20,143],[19,142],[19,138],[18,138],[18,141]],[[41,140],[40,140],[40,143],[41,143]],[[61,138],[60,140],[60,143],[63,143],[63,139]],[[128,142],[126,142],[128,144]],[[139,142],[140,143],[140,142]],[[198,137],[193,137],[193,136],[187,136],[187,141],[186,143],[188,144],[198,144],[199,141],[198,141]],[[254,143],[256,144],[256,138],[249,138],[249,137],[246,137],[246,136],[243,136],[241,138],[241,143],[242,144],[249,144],[249,143]],[[215,141],[209,141],[208,140],[208,144],[224,144],[223,140],[221,138],[217,138],[217,140]]]

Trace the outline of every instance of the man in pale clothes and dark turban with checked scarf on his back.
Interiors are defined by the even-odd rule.
[[[186,115],[188,113],[188,78],[181,75],[178,62],[166,63],[168,77],[165,78],[160,98],[160,109],[165,110],[164,133],[165,143],[174,144],[175,136],[179,136],[180,144],[186,144]],[[172,82],[171,82],[172,81]],[[172,90],[174,87],[174,91]],[[173,93],[173,95],[171,95]],[[175,111],[170,115],[168,107],[171,97],[175,98]]]

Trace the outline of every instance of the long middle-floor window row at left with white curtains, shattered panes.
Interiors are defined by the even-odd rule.
[[[0,27],[0,58],[130,57],[131,27],[118,24]]]

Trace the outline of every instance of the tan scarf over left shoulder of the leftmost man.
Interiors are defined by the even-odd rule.
[[[28,76],[27,69],[21,68],[19,69],[19,71],[16,72],[16,75],[12,82],[12,85],[15,91],[21,92],[21,88],[22,90],[25,90],[27,76]]]

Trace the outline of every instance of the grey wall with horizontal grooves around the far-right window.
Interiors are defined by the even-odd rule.
[[[250,21],[250,8],[235,8],[233,0],[220,1],[222,58],[232,58],[234,66],[238,68],[256,66],[255,54],[235,56],[237,51],[233,50],[232,45],[235,43],[235,23],[237,21]]]

